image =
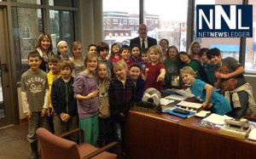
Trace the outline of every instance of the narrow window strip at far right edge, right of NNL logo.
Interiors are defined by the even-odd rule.
[[[249,4],[253,4],[253,10],[255,10],[256,0],[249,0]],[[256,72],[256,13],[253,12],[253,37],[247,37],[247,49],[245,57],[245,69],[246,71]]]

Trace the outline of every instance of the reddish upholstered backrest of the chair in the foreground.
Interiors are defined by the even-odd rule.
[[[80,158],[78,145],[75,142],[55,136],[45,128],[38,128],[37,135],[42,159]]]

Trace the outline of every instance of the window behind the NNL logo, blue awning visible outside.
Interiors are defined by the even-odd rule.
[[[223,1],[195,1],[195,10],[197,4],[241,4],[241,0],[225,0]],[[195,13],[196,15],[196,13]],[[196,31],[196,23],[194,32]],[[195,36],[195,34],[194,34]],[[218,48],[222,57],[233,57],[239,60],[240,38],[228,37],[194,37],[195,41],[201,44],[201,48]]]

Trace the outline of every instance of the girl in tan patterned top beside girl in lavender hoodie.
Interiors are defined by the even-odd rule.
[[[108,101],[108,88],[110,84],[108,65],[99,62],[97,66],[97,85],[99,88],[100,112],[99,112],[99,138],[97,145],[100,147],[110,143],[110,111]]]

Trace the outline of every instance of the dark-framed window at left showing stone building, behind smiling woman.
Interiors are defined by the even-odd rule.
[[[73,6],[76,6],[76,0],[49,0],[49,5],[52,6],[44,5],[44,11],[49,10],[48,14],[43,12],[41,5],[32,5],[33,9],[29,9],[25,8],[24,4],[20,4],[41,4],[41,2],[44,3],[45,1],[46,0],[12,0],[12,2],[16,2],[15,6],[11,6],[11,15],[17,82],[20,82],[22,73],[28,69],[27,55],[37,47],[38,36],[41,33],[49,33],[52,37],[53,53],[56,53],[56,43],[60,40],[66,41],[68,46],[70,46],[75,39],[74,31],[76,30],[74,29],[74,24],[78,24],[78,22],[76,21],[77,19],[74,19],[74,14],[76,14],[77,11],[74,11]],[[55,10],[55,5],[65,6],[67,10]],[[68,7],[70,7],[71,11]],[[46,15],[49,15],[49,17],[46,17]],[[49,29],[44,28],[43,20],[47,20]]]

